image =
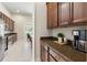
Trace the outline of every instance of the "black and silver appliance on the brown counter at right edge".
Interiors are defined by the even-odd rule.
[[[81,52],[87,52],[87,30],[73,30],[73,47]]]

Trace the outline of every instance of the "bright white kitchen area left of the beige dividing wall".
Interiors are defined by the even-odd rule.
[[[0,62],[32,61],[26,35],[33,39],[32,10],[31,2],[0,2]]]

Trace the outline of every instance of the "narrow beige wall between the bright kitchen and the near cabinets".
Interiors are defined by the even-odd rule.
[[[48,36],[51,31],[46,25],[46,4],[45,2],[39,2],[35,4],[35,29],[36,29],[36,61],[40,61],[40,37]]]

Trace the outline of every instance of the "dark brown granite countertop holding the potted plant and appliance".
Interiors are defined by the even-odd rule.
[[[46,44],[55,50],[55,52],[59,52],[61,54],[63,54],[64,56],[66,56],[67,58],[69,58],[73,62],[86,62],[86,54],[84,52],[77,51],[75,48],[72,47],[70,44],[66,44],[66,45],[59,45],[55,42],[53,42],[54,40],[57,40],[56,37],[41,37],[41,41],[46,42]]]

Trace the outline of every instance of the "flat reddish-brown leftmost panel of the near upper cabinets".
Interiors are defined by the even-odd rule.
[[[58,26],[58,3],[57,2],[48,2],[47,6],[47,28],[56,28]]]

